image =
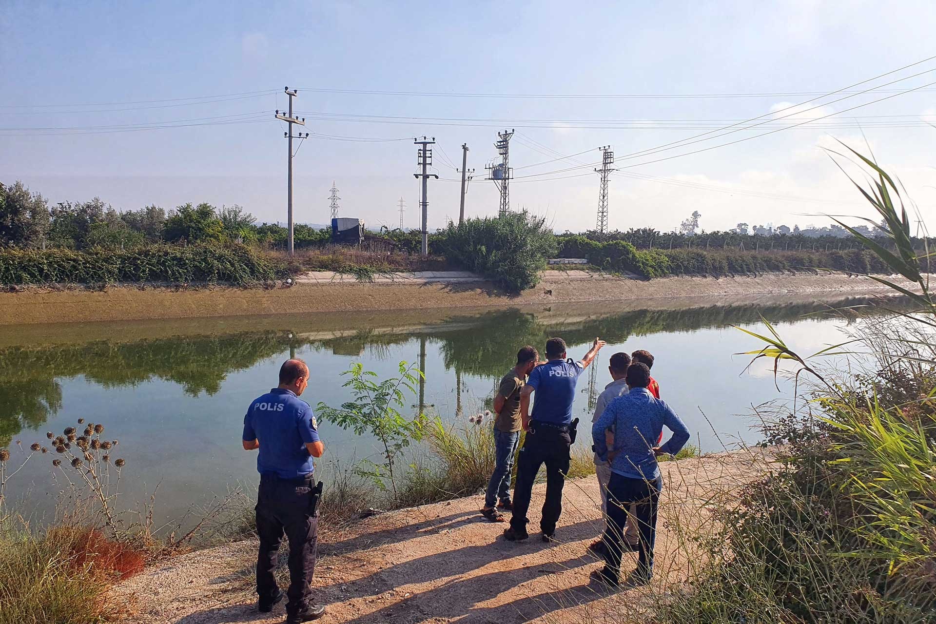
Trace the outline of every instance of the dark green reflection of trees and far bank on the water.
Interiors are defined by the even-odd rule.
[[[864,299],[850,299],[841,301],[838,306],[865,302]],[[345,319],[345,328],[340,327],[342,319],[339,318],[332,321],[335,327],[330,329],[321,328],[322,319],[266,317],[241,321],[239,327],[245,324],[256,327],[249,330],[225,331],[221,324],[220,331],[217,326],[212,327],[217,333],[139,340],[98,336],[82,341],[82,332],[94,336],[106,330],[69,326],[62,333],[69,341],[66,344],[26,343],[0,348],[0,446],[9,444],[23,428],[41,428],[47,419],[57,414],[63,408],[61,382],[68,378],[83,377],[86,383],[104,388],[163,380],[180,385],[190,397],[203,393],[212,396],[220,391],[232,373],[249,370],[258,362],[285,351],[295,356],[300,348],[311,347],[334,356],[367,354],[369,358],[383,360],[391,354],[392,346],[417,338],[417,361],[421,370],[427,367],[429,342],[437,348],[445,370],[454,370],[455,414],[461,415],[463,375],[490,378],[496,383],[513,363],[520,346],[541,347],[552,335],[561,335],[570,345],[592,341],[595,336],[620,344],[633,336],[753,323],[761,313],[771,321],[782,323],[828,310],[826,304],[798,302],[588,313],[589,307],[608,305],[611,304],[569,304],[536,312],[448,312],[446,318],[437,322],[425,320],[425,313],[389,320],[376,317],[362,325],[357,325],[354,319]],[[178,327],[171,330],[178,331]],[[193,331],[197,331],[197,327],[193,327]],[[125,333],[132,332],[115,330],[113,335]],[[17,341],[15,334],[10,332],[7,342]],[[32,337],[24,332],[22,340],[32,340]],[[419,384],[420,409],[426,406],[426,385],[432,383],[437,372],[426,370],[426,379]],[[600,372],[592,367],[583,389],[588,396],[589,409],[593,409],[594,400],[604,385],[598,380]],[[484,399],[490,401],[490,396]]]

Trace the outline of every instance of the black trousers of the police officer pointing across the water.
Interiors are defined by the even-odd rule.
[[[536,425],[526,434],[523,448],[517,458],[517,484],[514,486],[514,511],[510,527],[517,532],[526,532],[530,521],[527,511],[533,495],[533,484],[539,467],[546,464],[546,501],[539,528],[544,535],[556,530],[559,515],[563,513],[563,485],[569,472],[569,452],[572,439],[568,431]]]

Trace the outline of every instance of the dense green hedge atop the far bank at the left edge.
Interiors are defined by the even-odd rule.
[[[246,245],[152,245],[133,250],[0,249],[0,283],[234,283],[287,275],[285,265]]]

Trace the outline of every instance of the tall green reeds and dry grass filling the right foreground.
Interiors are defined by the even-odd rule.
[[[797,367],[802,395],[760,414],[780,444],[768,477],[746,487],[694,541],[702,561],[653,608],[661,622],[936,621],[936,305],[929,252],[914,251],[900,187],[869,158],[856,184],[886,243],[841,223],[875,262],[915,284],[911,312],[858,325],[854,340],[802,356],[766,324],[750,352]],[[870,221],[870,220],[869,220]],[[872,222],[873,223],[873,222]],[[893,251],[891,251],[893,250]],[[882,304],[886,308],[886,304]],[[753,333],[753,332],[748,332]],[[847,370],[821,363],[849,358]],[[776,369],[775,369],[776,370]]]

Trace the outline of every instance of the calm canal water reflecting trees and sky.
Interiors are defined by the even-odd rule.
[[[593,401],[610,381],[608,358],[647,349],[665,399],[688,424],[703,452],[754,443],[752,406],[789,398],[766,361],[746,370],[760,348],[736,327],[764,333],[759,314],[777,324],[795,349],[813,353],[843,340],[843,316],[812,297],[684,298],[594,302],[537,309],[332,312],[171,321],[0,327],[0,447],[11,467],[31,443],[47,444],[77,420],[103,424],[119,440],[125,506],[157,488],[158,520],[182,517],[228,487],[256,483],[256,453],[241,449],[243,414],[276,385],[287,357],[304,359],[311,381],[302,399],[338,406],[349,399],[342,372],[356,362],[381,378],[400,361],[425,370],[408,397],[455,427],[490,406],[497,380],[519,347],[541,351],[552,336],[580,357],[595,337],[607,341],[578,383],[575,414],[591,422]],[[861,301],[839,300],[836,307]],[[588,444],[587,427],[580,444]],[[374,457],[373,440],[320,424],[327,455],[319,470]],[[22,445],[17,445],[17,442]],[[22,450],[21,450],[22,449]],[[9,480],[8,501],[48,515],[64,489],[53,455],[37,455]]]

